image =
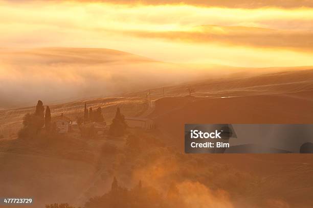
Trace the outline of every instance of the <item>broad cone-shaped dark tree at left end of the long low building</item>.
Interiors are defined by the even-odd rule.
[[[126,132],[126,127],[125,117],[121,114],[120,108],[117,108],[115,118],[109,128],[109,135],[115,137],[123,136]]]

